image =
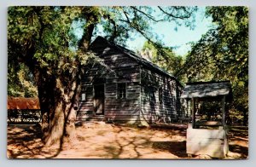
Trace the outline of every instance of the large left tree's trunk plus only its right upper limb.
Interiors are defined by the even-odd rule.
[[[86,20],[90,20],[91,17],[96,20],[95,14],[85,15]],[[84,52],[88,50],[95,26],[96,23],[91,23],[85,27],[84,35],[79,42],[80,50]],[[75,138],[76,110],[74,107],[79,102],[81,87],[81,65],[79,60],[77,61],[76,68],[71,67],[69,72],[61,71],[55,74],[50,74],[54,70],[49,69],[55,69],[57,65],[44,68],[40,67],[38,62],[31,64],[32,60],[27,61],[38,85],[38,97],[43,115],[43,140],[46,146],[61,148],[63,141],[73,141]]]

